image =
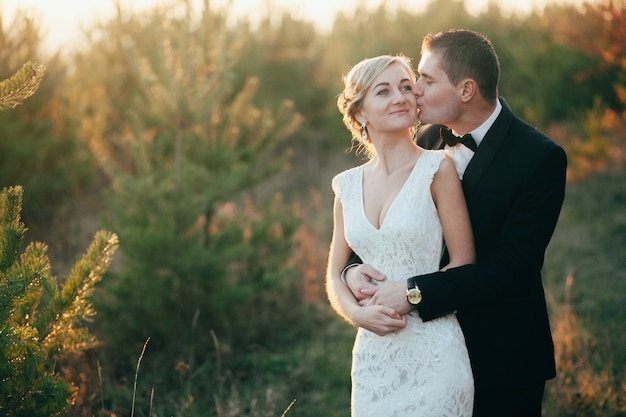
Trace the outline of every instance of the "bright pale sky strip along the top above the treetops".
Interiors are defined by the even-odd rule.
[[[421,10],[427,0],[230,0],[233,16],[248,16],[252,21],[255,14],[266,14],[268,4],[272,9],[285,8],[294,17],[315,22],[321,29],[332,26],[337,12],[347,16],[352,14],[356,5],[365,4],[376,8],[385,2],[393,10],[398,6],[415,7]],[[433,0],[436,1],[436,0]],[[489,0],[465,0],[470,13],[480,13]],[[543,8],[546,1],[554,3],[571,3],[576,0],[493,0],[501,4],[504,11],[529,12]],[[194,0],[200,9],[202,1]],[[211,6],[221,7],[229,0],[211,0]],[[168,0],[121,0],[124,8],[142,10],[158,4],[171,4]],[[19,8],[30,16],[40,19],[46,33],[44,43],[57,48],[61,44],[75,45],[79,40],[81,27],[89,28],[96,21],[106,20],[115,13],[115,0],[0,0],[0,16],[6,27]]]

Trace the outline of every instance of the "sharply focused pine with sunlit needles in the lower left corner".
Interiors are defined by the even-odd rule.
[[[55,364],[97,342],[85,327],[94,310],[89,295],[117,248],[116,235],[100,231],[60,285],[50,274],[46,245],[20,254],[22,188],[0,194],[0,414],[65,415],[74,396]]]

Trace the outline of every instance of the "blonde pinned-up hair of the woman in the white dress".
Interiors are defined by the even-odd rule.
[[[343,115],[343,123],[352,133],[353,145],[357,146],[356,153],[362,150],[371,157],[373,149],[371,142],[363,142],[363,128],[361,123],[356,119],[356,115],[361,110],[363,99],[372,83],[387,67],[391,64],[398,63],[404,67],[415,81],[415,71],[411,66],[411,59],[405,55],[380,55],[373,58],[366,58],[356,64],[352,69],[344,74],[344,89],[337,98],[337,107]]]

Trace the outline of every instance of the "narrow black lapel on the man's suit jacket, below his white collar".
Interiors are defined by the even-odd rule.
[[[500,149],[500,146],[504,143],[507,131],[513,121],[513,112],[511,112],[508,104],[503,98],[501,98],[500,101],[502,103],[502,110],[500,111],[500,114],[487,131],[487,134],[483,138],[480,146],[474,154],[474,157],[467,165],[465,173],[463,174],[463,190],[465,191],[466,196],[476,188],[476,185],[485,173],[489,164],[491,164],[491,161],[498,152],[498,149]]]

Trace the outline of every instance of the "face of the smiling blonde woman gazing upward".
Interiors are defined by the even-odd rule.
[[[372,82],[359,112],[370,135],[410,129],[417,122],[413,76],[402,65],[390,64]]]

